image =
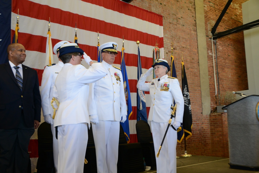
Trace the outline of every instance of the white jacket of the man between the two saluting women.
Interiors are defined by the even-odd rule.
[[[102,61],[107,75],[91,84],[88,109],[90,115],[98,115],[98,120],[120,121],[121,115],[127,115],[121,70]],[[119,75],[120,81],[116,80]]]

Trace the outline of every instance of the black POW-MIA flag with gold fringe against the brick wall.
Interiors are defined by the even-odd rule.
[[[185,73],[184,63],[182,61],[182,91],[184,99],[184,112],[183,112],[183,129],[186,139],[192,136],[192,109],[189,95],[188,82]]]

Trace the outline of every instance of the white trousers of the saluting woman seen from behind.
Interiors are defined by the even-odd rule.
[[[58,126],[58,173],[83,173],[88,142],[87,123]]]

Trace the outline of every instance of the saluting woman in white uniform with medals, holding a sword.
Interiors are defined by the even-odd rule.
[[[157,78],[152,82],[145,83],[146,78],[154,72]],[[172,119],[172,125],[177,130],[183,122],[184,100],[179,81],[176,78],[168,77],[170,67],[166,60],[158,59],[154,65],[138,81],[137,88],[142,91],[149,91],[151,105],[148,120],[151,121],[151,128],[154,140],[155,154],[158,153],[168,122],[171,117],[171,106],[176,103],[176,116]],[[157,173],[176,172],[176,144],[177,131],[169,127],[166,138],[160,150],[159,157],[156,157]]]

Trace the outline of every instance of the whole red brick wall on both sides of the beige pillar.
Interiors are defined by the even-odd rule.
[[[211,47],[211,28],[214,26],[227,0],[204,0],[204,16],[208,58],[208,73],[211,97],[211,112],[215,112],[218,101],[215,97],[213,61]],[[231,3],[216,32],[225,31],[242,25],[241,4],[246,0]],[[227,143],[218,139],[226,137],[215,126],[224,126],[225,121],[212,115],[203,115],[200,91],[199,58],[196,31],[195,0],[133,0],[130,4],[155,12],[163,16],[164,57],[170,62],[171,41],[174,43],[176,73],[181,86],[181,55],[189,84],[192,106],[192,137],[186,141],[187,153],[192,155],[226,156]],[[155,46],[155,43],[154,43]],[[215,51],[215,49],[214,49]],[[232,34],[217,40],[217,60],[219,91],[241,91],[248,89],[243,32]],[[213,120],[212,120],[213,118]],[[214,122],[215,121],[215,122]],[[218,121],[218,122],[216,122]],[[218,124],[217,124],[218,123]],[[216,125],[217,124],[217,125]],[[216,145],[217,144],[217,145]],[[216,148],[220,146],[219,148]],[[177,144],[177,155],[184,153],[184,140]]]

